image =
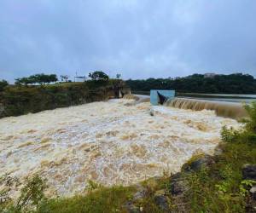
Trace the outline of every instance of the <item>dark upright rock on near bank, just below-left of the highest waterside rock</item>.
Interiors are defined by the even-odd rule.
[[[170,192],[173,196],[182,195],[189,190],[188,181],[182,172],[178,172],[171,177]]]

